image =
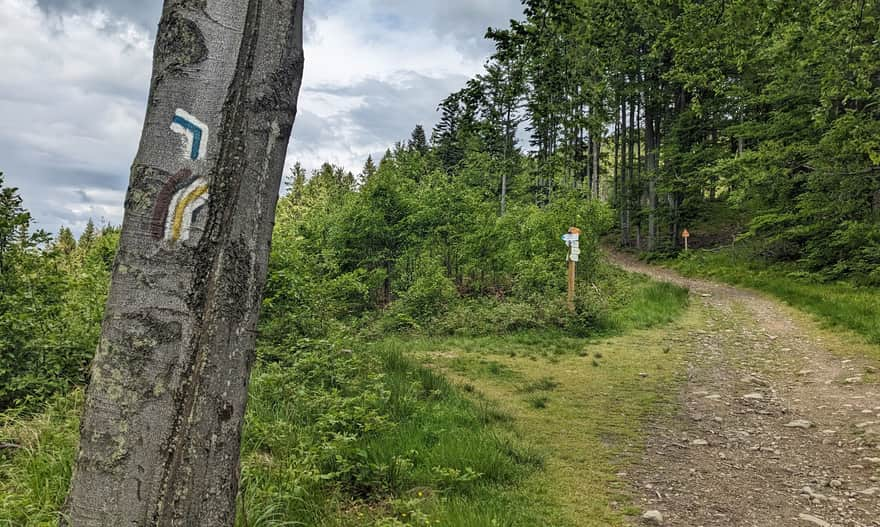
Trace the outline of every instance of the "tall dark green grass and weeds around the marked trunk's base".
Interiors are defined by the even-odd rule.
[[[15,446],[0,450],[0,525],[57,523],[82,399],[77,391],[37,417],[2,417],[0,443]],[[536,525],[551,499],[533,500],[524,485],[542,459],[510,424],[397,345],[323,347],[262,364],[245,422],[238,523]]]

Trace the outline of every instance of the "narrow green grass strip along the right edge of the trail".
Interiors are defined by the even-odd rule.
[[[803,273],[735,259],[729,252],[696,251],[667,263],[689,276],[712,278],[764,291],[816,315],[829,326],[849,329],[880,344],[880,289],[843,282],[823,283]]]

